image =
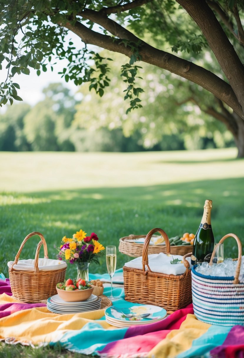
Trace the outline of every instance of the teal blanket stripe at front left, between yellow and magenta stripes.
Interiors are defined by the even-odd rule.
[[[128,328],[105,329],[97,322],[89,322],[80,330],[70,330],[51,346],[58,343],[62,348],[82,354],[95,354],[110,342],[123,339]],[[99,337],[99,339],[98,339]],[[101,339],[101,337],[103,337]]]

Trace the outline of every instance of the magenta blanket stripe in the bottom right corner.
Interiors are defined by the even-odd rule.
[[[244,357],[244,327],[236,325],[231,328],[223,344],[210,352],[211,357],[242,358]]]

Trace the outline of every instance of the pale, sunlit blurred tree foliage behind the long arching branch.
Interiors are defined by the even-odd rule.
[[[108,51],[103,50],[100,55],[106,57]],[[125,83],[118,74],[124,61],[123,55],[113,55],[110,91],[106,91],[103,97],[89,92],[88,83],[80,86],[83,100],[76,106],[73,122],[77,128],[89,131],[122,128],[126,137],[133,136],[135,140],[137,131],[138,144],[147,149],[157,145],[155,150],[184,149],[183,143],[186,149],[191,150],[229,145],[231,134],[226,127],[205,113],[213,105],[213,95],[147,63],[139,63],[142,68],[138,74],[142,78],[137,80],[140,87],[147,88],[140,96],[142,108],[126,115],[127,103],[121,97]],[[193,98],[197,99],[197,104]]]

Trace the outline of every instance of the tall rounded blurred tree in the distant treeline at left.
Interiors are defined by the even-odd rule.
[[[61,83],[43,89],[45,98],[24,117],[24,133],[31,149],[36,151],[74,151],[70,141],[70,126],[77,101]]]

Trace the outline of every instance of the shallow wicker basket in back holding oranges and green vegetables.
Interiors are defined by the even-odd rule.
[[[143,243],[131,242],[131,240],[139,239],[141,237],[146,237],[146,235],[133,235],[121,237],[119,239],[118,250],[121,253],[125,253],[128,256],[140,257],[142,256]],[[181,255],[184,256],[189,252],[192,252],[191,245],[177,245],[171,246],[170,248],[172,255]],[[151,253],[167,253],[166,245],[149,245],[148,246],[148,255]]]

